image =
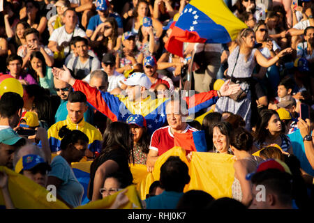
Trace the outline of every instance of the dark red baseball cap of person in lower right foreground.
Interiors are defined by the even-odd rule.
[[[250,174],[246,174],[246,180],[251,180],[251,178],[253,177],[254,174],[257,174],[258,172],[261,172],[261,171],[265,171],[267,169],[278,169],[282,172],[291,174],[291,171],[290,171],[289,167],[287,166],[287,164],[285,164],[285,162],[283,162],[281,160],[277,160],[277,159],[268,159],[268,160],[261,162],[257,166],[256,171],[254,171]]]

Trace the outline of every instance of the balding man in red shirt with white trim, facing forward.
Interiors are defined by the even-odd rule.
[[[182,106],[182,105],[181,105]],[[187,133],[198,131],[186,123],[187,116],[182,114],[179,100],[170,100],[166,105],[169,125],[159,128],[151,135],[151,144],[147,155],[147,170],[152,171],[160,155],[174,147],[174,132]]]

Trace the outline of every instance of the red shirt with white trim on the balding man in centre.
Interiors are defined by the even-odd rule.
[[[198,131],[195,128],[190,127],[190,125],[186,126],[186,129],[182,133],[186,132],[195,132]],[[151,144],[149,145],[149,149],[154,151],[158,151],[158,155],[163,155],[163,153],[169,151],[174,147],[174,137],[172,132],[170,131],[170,126],[167,125],[162,128],[158,128],[151,135]]]

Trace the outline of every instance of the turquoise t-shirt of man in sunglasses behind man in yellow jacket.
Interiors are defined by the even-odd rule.
[[[66,120],[66,117],[68,116],[68,109],[66,109],[66,104],[68,103],[68,100],[61,100],[61,103],[59,105],[59,108],[57,109],[56,114],[54,115],[54,123],[57,123],[58,121]],[[84,112],[84,120],[94,125],[94,108],[87,103],[87,111]]]

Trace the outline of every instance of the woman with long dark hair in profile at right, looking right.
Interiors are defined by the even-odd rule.
[[[275,110],[264,109],[260,112],[254,136],[257,148],[277,144],[283,151],[292,153],[291,141],[283,134],[283,125]]]

